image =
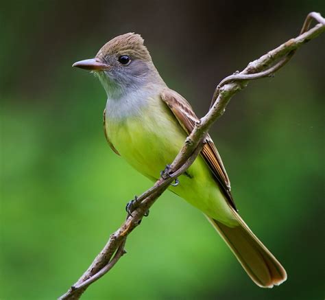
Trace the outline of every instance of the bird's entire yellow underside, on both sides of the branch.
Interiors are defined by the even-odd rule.
[[[175,159],[186,139],[168,108],[154,108],[146,108],[141,117],[106,119],[106,132],[121,157],[152,180],[158,179],[160,171]],[[197,157],[186,173],[180,176],[177,187],[169,189],[211,218],[230,226],[237,224],[204,159]]]

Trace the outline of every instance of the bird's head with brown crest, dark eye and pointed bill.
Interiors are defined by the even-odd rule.
[[[143,38],[131,33],[113,38],[95,58],[75,62],[73,67],[93,71],[112,98],[140,89],[156,71]]]

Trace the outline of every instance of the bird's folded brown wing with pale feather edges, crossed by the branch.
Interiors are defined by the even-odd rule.
[[[164,89],[163,92],[160,93],[160,97],[167,106],[169,106],[186,134],[189,135],[192,132],[195,123],[199,121],[199,118],[193,112],[189,102],[187,102],[180,94],[176,93],[176,91],[171,89]],[[206,137],[206,144],[204,145],[201,154],[211,172],[213,172],[220,187],[223,189],[230,205],[236,209],[234,199],[230,193],[230,181],[224,168],[224,163],[222,163],[221,157],[210,135]]]

